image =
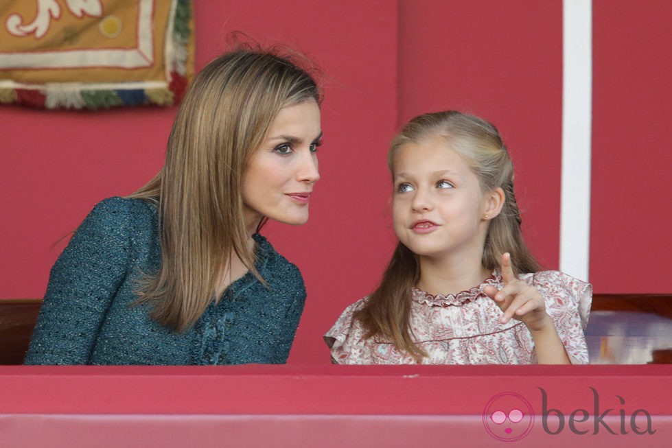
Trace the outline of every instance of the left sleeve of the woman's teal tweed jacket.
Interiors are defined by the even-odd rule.
[[[97,204],[51,268],[25,364],[86,364],[128,274],[127,200]]]

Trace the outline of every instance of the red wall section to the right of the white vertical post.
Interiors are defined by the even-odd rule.
[[[590,281],[672,292],[672,2],[593,1]]]

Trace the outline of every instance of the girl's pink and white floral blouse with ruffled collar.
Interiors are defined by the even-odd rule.
[[[522,274],[544,297],[546,312],[575,364],[588,363],[583,329],[588,324],[592,286],[558,271]],[[534,364],[532,335],[520,321],[500,324],[502,311],[483,293],[485,285],[502,287],[502,278],[493,274],[483,284],[459,294],[432,296],[414,289],[410,327],[416,343],[428,356],[422,364]],[[334,327],[325,334],[336,364],[415,364],[391,342],[373,337],[352,314],[366,303],[364,297],[343,311]]]

